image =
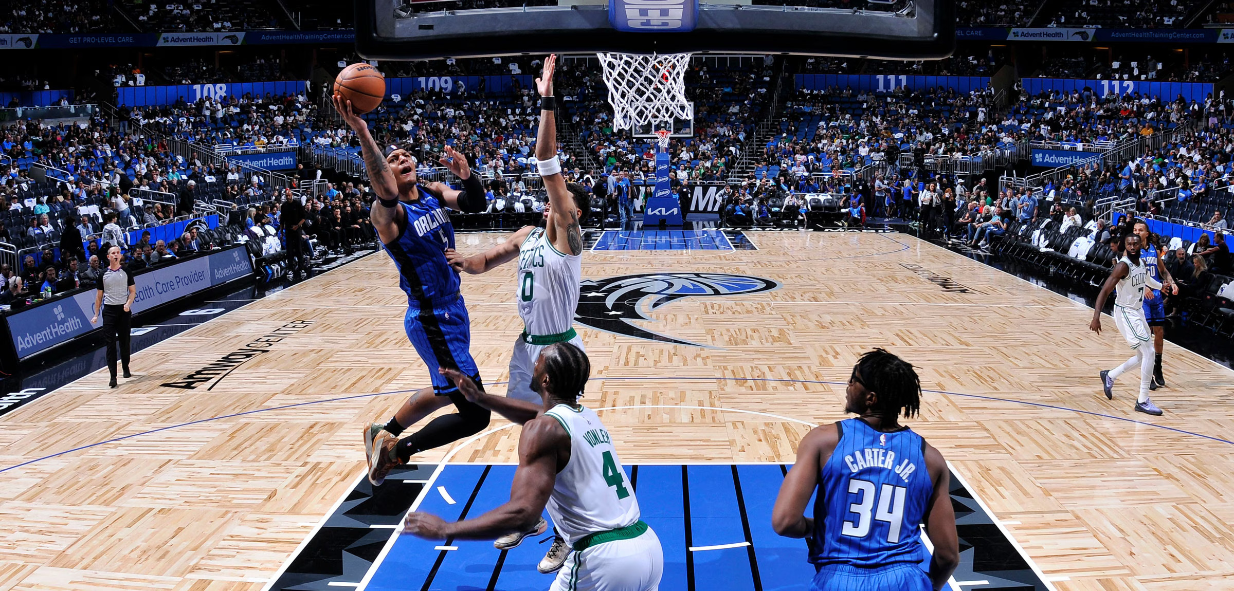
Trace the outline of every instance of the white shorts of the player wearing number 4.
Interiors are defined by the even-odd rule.
[[[631,539],[571,552],[549,591],[658,591],[664,549],[652,528]]]

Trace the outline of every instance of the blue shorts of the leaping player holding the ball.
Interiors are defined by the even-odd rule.
[[[428,365],[433,394],[444,396],[458,392],[458,387],[437,371],[438,368],[458,369],[480,384],[480,370],[471,359],[471,320],[463,296],[447,305],[408,307],[404,328],[407,329],[407,341]]]

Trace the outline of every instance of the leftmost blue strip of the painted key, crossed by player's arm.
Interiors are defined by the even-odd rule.
[[[448,465],[437,480],[431,482],[431,489],[424,492],[417,511],[426,511],[441,516],[445,521],[457,521],[466,500],[471,497],[480,475],[484,474],[481,465]],[[450,503],[442,495],[438,487],[445,489]],[[376,572],[369,581],[368,589],[373,591],[402,591],[406,589],[420,589],[429,570],[437,561],[441,550],[434,548],[441,545],[441,540],[420,539],[415,535],[400,535],[394,547],[386,554],[385,560],[378,566]],[[492,545],[489,545],[492,548]],[[487,584],[487,580],[485,580]]]

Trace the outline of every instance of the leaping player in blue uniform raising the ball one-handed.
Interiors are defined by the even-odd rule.
[[[445,250],[454,248],[454,227],[447,207],[473,213],[484,211],[484,186],[480,175],[471,174],[466,158],[450,147],[445,148],[447,158],[441,163],[463,180],[464,189],[450,190],[442,183],[420,185],[416,158],[411,153],[391,146],[383,158],[368,123],[352,111],[350,101],[334,95],[334,109],[360,138],[364,167],[379,201],[369,217],[399,268],[399,285],[407,292],[404,328],[428,365],[433,381],[431,389],[416,392],[386,424],[365,426],[369,481],[380,486],[390,469],[406,463],[413,454],[479,433],[489,426],[490,412],[468,402],[436,371],[436,368],[458,369],[480,382],[479,369],[471,359],[471,327],[459,295],[459,275],[445,260]],[[450,402],[458,408],[457,413],[437,417],[411,437],[397,439],[404,429]]]

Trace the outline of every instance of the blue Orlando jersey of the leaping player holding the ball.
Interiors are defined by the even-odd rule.
[[[445,260],[445,249],[454,248],[454,226],[441,200],[418,189],[420,200],[399,202],[407,213],[402,233],[383,246],[399,268],[399,286],[407,292],[408,305],[431,307],[450,302],[459,292],[459,274]]]

